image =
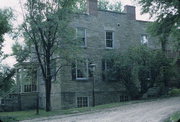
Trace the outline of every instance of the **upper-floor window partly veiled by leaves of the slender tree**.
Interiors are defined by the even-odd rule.
[[[78,40],[78,44],[82,47],[86,47],[86,29],[85,28],[77,28],[76,29],[76,37]]]

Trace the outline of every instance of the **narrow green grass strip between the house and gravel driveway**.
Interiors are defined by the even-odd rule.
[[[159,98],[159,99],[163,99],[163,98]],[[20,121],[20,120],[34,119],[34,118],[40,118],[40,117],[49,117],[49,116],[55,116],[55,115],[67,115],[67,114],[85,113],[85,112],[90,113],[90,112],[100,111],[103,109],[115,108],[115,107],[120,107],[123,105],[142,103],[142,102],[148,102],[148,101],[154,101],[154,100],[157,100],[157,99],[111,103],[111,104],[104,104],[104,105],[98,105],[95,107],[86,107],[86,108],[72,108],[72,109],[67,109],[67,110],[53,110],[50,112],[40,110],[39,115],[36,115],[36,110],[16,111],[16,112],[0,112],[0,119],[10,118],[10,120],[12,119],[14,122],[15,120]]]

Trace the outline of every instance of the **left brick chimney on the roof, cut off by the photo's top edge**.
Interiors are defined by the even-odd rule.
[[[87,0],[87,14],[97,16],[97,0]]]

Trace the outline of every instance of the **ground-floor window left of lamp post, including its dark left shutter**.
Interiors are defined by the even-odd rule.
[[[87,80],[88,74],[88,60],[76,60],[72,64],[72,80]]]

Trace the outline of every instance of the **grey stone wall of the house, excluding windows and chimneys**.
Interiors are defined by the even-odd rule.
[[[97,16],[88,14],[77,14],[74,16],[71,27],[85,28],[87,47],[79,51],[79,57],[84,57],[96,64],[95,71],[95,104],[106,104],[119,102],[121,95],[127,95],[127,92],[121,82],[106,82],[102,79],[102,59],[108,53],[123,52],[129,47],[141,44],[141,35],[147,34],[146,27],[148,22],[129,19],[127,13],[118,13],[111,11],[97,11]],[[105,32],[114,32],[114,47],[106,49]],[[156,39],[148,35],[151,48],[159,48],[155,44]],[[52,86],[52,108],[66,109],[77,107],[77,97],[86,96],[89,100],[89,106],[92,105],[92,82],[93,79],[72,80],[71,66],[64,67],[59,72],[56,83]],[[40,104],[45,107],[44,84],[40,85]]]

